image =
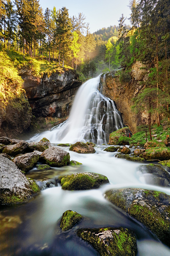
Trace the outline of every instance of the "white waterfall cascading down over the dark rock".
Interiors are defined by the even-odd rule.
[[[99,92],[99,83],[100,76],[82,84],[75,96],[68,120],[51,131],[35,135],[31,140],[38,141],[46,137],[51,143],[107,143],[109,133],[122,128],[123,123],[114,101]]]

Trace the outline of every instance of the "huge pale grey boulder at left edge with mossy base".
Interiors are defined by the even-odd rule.
[[[0,204],[18,204],[40,192],[34,180],[27,178],[8,158],[0,156]]]

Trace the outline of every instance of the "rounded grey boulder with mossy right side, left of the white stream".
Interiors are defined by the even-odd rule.
[[[70,164],[70,154],[61,148],[51,147],[41,155],[41,160],[54,167],[61,167]]]

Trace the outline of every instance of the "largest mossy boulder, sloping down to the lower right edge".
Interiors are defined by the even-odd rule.
[[[140,188],[109,190],[112,204],[149,228],[164,244],[170,246],[170,196]]]

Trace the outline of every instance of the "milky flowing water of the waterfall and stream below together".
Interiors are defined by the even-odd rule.
[[[99,78],[95,79],[92,81],[98,84]],[[93,86],[92,81],[90,83]],[[28,177],[35,180],[51,179],[55,185],[41,190],[40,195],[26,204],[3,207],[1,209],[1,256],[99,255],[91,245],[76,236],[76,229],[82,227],[129,228],[135,232],[137,238],[137,256],[170,255],[170,249],[162,244],[152,232],[104,198],[105,192],[111,188],[144,188],[162,191],[168,195],[170,195],[170,189],[146,184],[143,176],[137,171],[137,167],[141,163],[118,159],[115,157],[116,153],[103,151],[108,145],[102,144],[108,141],[108,133],[110,132],[110,128],[106,128],[106,124],[109,123],[115,130],[121,128],[123,124],[114,103],[102,96],[97,90],[97,86],[95,86],[91,87],[89,85],[89,93],[85,94],[86,90],[83,92],[84,98],[88,101],[87,104],[85,103],[88,113],[85,113],[86,110],[82,110],[80,106],[78,108],[78,105],[77,109],[74,104],[69,120],[66,123],[51,131],[37,134],[29,141],[39,141],[41,138],[46,137],[53,143],[52,146],[57,146],[59,142],[74,143],[76,141],[85,141],[89,138],[88,141],[95,141],[97,143],[95,147],[96,153],[78,154],[69,151],[69,147],[62,147],[70,153],[70,160],[78,161],[82,165],[63,166],[60,168],[52,167],[49,171],[41,172],[37,171],[34,167],[33,170],[27,173]],[[81,90],[82,88],[80,88]],[[93,96],[91,95],[92,97],[90,96],[91,90],[93,90],[98,100],[95,100],[94,94]],[[91,97],[91,100],[89,97]],[[80,99],[80,95],[77,99]],[[93,104],[95,101],[97,105],[96,103]],[[105,101],[110,101],[110,105],[108,102],[105,103]],[[83,104],[83,98],[81,98],[79,103],[80,105]],[[91,108],[89,110],[88,106],[90,105],[92,108],[98,107],[98,109],[92,110]],[[100,109],[102,109],[102,114],[98,112]],[[106,109],[110,111],[109,114]],[[82,116],[84,118],[80,120]],[[106,120],[105,125],[100,125],[102,118]],[[91,121],[89,121],[90,119]],[[70,120],[75,121],[72,123],[73,121]],[[100,173],[107,176],[110,183],[101,186],[99,189],[83,191],[66,191],[62,190],[59,184],[56,185],[55,179],[59,175],[76,172]],[[61,232],[59,221],[66,210],[76,211],[84,219],[70,231]]]

